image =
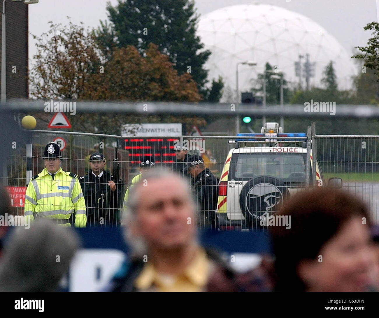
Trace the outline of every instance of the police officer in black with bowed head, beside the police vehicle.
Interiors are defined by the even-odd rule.
[[[215,229],[218,179],[205,167],[204,160],[198,154],[189,157],[184,172],[191,174],[191,189],[200,205],[198,225],[201,228]]]

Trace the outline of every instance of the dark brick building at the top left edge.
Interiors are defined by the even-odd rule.
[[[1,12],[3,10],[2,3],[3,1],[1,0]],[[6,0],[5,23],[6,97],[28,98],[28,5],[25,5],[23,2]],[[0,13],[0,42],[1,33],[2,14]]]

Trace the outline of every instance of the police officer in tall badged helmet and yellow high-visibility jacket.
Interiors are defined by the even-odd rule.
[[[31,178],[25,193],[25,223],[44,217],[71,226],[70,216],[75,213],[75,227],[85,227],[86,204],[78,175],[62,170],[63,157],[55,142],[46,145],[44,159],[44,170]]]

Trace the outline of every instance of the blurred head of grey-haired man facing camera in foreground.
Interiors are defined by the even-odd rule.
[[[150,170],[130,189],[128,198],[126,230],[135,254],[180,249],[195,242],[194,206],[179,176]]]

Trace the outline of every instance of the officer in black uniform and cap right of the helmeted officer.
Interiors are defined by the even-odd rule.
[[[113,175],[105,170],[106,160],[102,153],[89,157],[91,169],[80,177],[81,189],[86,200],[87,220],[90,226],[116,226],[121,207],[121,185],[116,186]]]

